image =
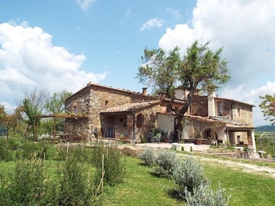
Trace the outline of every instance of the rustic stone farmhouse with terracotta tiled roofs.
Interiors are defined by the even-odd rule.
[[[187,92],[175,90],[173,106],[181,108]],[[161,128],[169,142],[190,141],[202,137],[203,144],[229,143],[255,148],[252,104],[219,98],[214,94],[194,95],[182,128],[169,111],[169,100],[141,93],[114,89],[89,82],[65,100],[65,130],[72,138],[94,137],[140,142],[152,128]]]

